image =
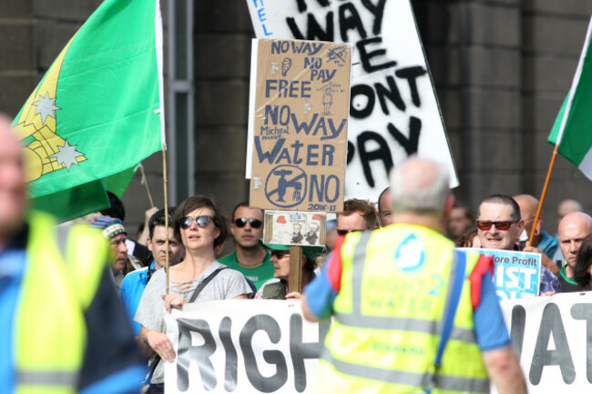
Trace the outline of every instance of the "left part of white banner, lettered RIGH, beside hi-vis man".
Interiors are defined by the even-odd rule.
[[[279,300],[187,304],[165,320],[177,353],[166,394],[306,392],[329,327],[304,320],[300,301]]]

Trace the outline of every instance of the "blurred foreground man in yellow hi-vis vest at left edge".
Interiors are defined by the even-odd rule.
[[[26,205],[23,148],[0,114],[0,392],[137,393],[144,368],[107,241]]]

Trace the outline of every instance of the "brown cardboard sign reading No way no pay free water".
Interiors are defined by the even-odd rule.
[[[250,207],[342,209],[351,58],[350,45],[253,40]]]

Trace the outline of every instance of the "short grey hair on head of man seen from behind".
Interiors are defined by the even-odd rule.
[[[442,215],[450,193],[449,179],[444,165],[427,159],[411,158],[394,167],[391,172],[393,213]]]

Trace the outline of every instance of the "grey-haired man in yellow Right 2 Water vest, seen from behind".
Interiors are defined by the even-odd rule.
[[[526,393],[491,277],[491,258],[444,237],[454,205],[443,166],[393,170],[393,225],[341,237],[305,290],[304,316],[334,317],[320,393]]]

